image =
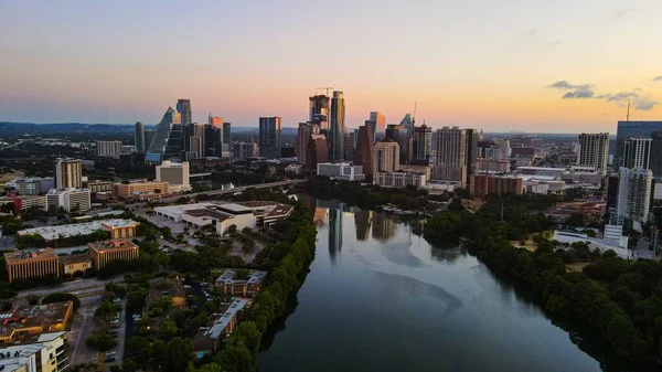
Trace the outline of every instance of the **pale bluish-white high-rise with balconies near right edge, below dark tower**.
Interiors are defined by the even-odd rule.
[[[650,169],[624,167],[619,172],[617,223],[631,224],[632,228],[641,232],[643,224],[649,221],[653,172]]]

